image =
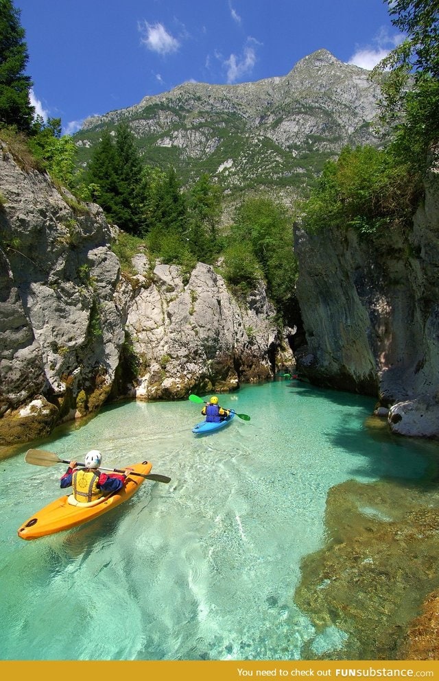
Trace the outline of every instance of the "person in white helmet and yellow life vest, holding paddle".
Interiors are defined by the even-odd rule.
[[[60,480],[60,486],[62,489],[72,486],[75,500],[82,503],[90,503],[104,495],[119,491],[123,487],[130,470],[132,470],[126,468],[122,474],[111,473],[111,475],[108,475],[102,473],[99,470],[99,466],[102,464],[102,454],[97,449],[91,449],[86,453],[85,468],[75,468],[76,464],[75,460],[69,463],[69,468]]]

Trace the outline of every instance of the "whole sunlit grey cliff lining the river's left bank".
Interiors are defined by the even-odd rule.
[[[137,276],[123,276],[99,206],[21,161],[1,145],[0,444],[120,395],[230,390],[291,363],[262,283],[238,301],[207,265],[183,283],[179,267],[141,254]]]

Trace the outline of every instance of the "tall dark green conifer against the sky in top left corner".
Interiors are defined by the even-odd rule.
[[[24,73],[29,57],[20,14],[12,0],[0,0],[0,123],[29,132],[34,117],[29,101],[33,83]]]

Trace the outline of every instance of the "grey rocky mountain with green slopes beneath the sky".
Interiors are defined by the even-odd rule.
[[[309,187],[346,144],[379,145],[379,85],[320,49],[287,75],[240,84],[185,82],[89,117],[74,139],[85,166],[102,130],[127,121],[147,165],[174,165],[183,184],[207,172],[226,193]]]

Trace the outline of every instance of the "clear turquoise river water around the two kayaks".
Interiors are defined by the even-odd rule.
[[[251,416],[201,438],[200,405],[126,403],[27,444],[1,464],[0,657],[3,660],[300,659],[305,641],[337,649],[294,604],[300,559],[325,540],[331,486],[416,479],[427,459],[402,438],[372,438],[373,400],[278,381],[220,403]],[[29,446],[103,466],[148,459],[121,507],[25,542],[16,530],[61,495],[66,466],[31,466]]]

